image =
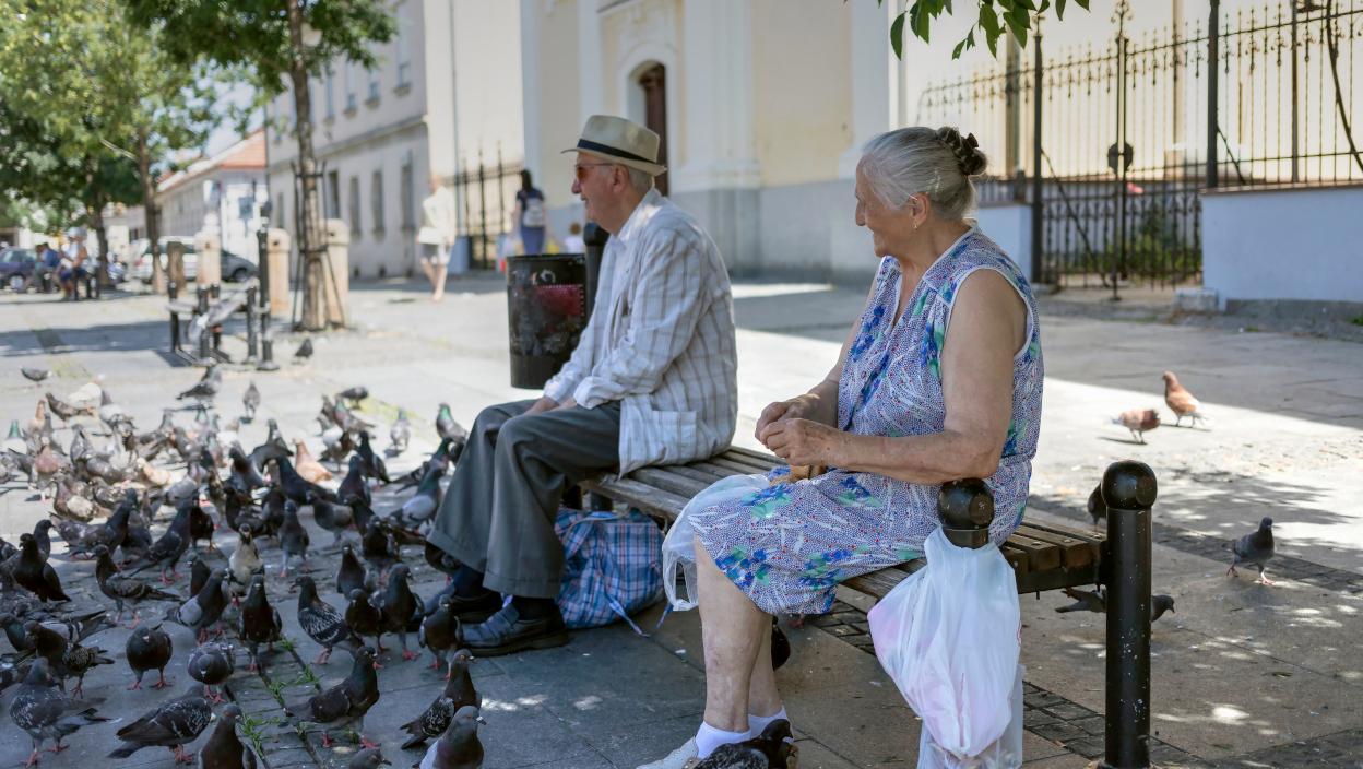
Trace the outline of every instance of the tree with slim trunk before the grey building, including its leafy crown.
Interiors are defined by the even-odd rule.
[[[384,0],[127,0],[134,19],[165,33],[168,55],[180,61],[213,61],[241,68],[256,86],[260,104],[293,90],[297,120],[303,228],[297,233],[303,259],[303,327],[319,330],[327,312],[323,289],[322,194],[308,76],[320,76],[328,61],[349,59],[365,67],[378,63],[371,44],[393,40],[397,25]],[[339,315],[339,314],[337,314]]]

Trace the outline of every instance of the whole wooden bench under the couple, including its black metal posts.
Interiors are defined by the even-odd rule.
[[[642,468],[624,477],[592,477],[582,489],[671,524],[692,496],[714,481],[733,474],[766,473],[777,464],[780,459],[770,454],[728,449],[699,462]],[[1085,585],[1107,589],[1103,766],[1150,765],[1150,507],[1156,485],[1150,468],[1139,462],[1115,462],[1101,483],[1108,507],[1107,536],[1028,521],[1000,548],[1017,575],[1020,593]],[[943,529],[953,541],[979,547],[984,541],[981,528],[987,528],[992,517],[992,500],[984,484],[966,480],[945,488],[949,491],[939,498]],[[916,559],[853,577],[842,585],[882,599],[925,564],[924,559]]]

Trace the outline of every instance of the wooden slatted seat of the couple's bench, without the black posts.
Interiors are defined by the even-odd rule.
[[[699,462],[641,468],[623,479],[598,476],[582,485],[586,491],[638,507],[671,524],[686,503],[710,484],[728,476],[765,473],[778,464],[782,462],[770,454],[729,449]],[[1092,586],[1099,582],[1103,536],[1029,521],[1018,526],[1000,551],[1017,575],[1018,593]],[[842,585],[882,599],[924,563],[923,559],[910,560],[853,577]]]

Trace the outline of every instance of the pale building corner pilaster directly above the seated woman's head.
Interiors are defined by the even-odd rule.
[[[838,161],[838,176],[856,176],[861,147],[893,128],[904,98],[898,61],[890,46],[890,14],[895,3],[848,3],[852,14],[852,145]]]

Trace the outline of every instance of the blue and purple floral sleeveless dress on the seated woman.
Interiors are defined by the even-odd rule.
[[[861,329],[838,382],[838,427],[859,435],[942,432],[940,357],[955,292],[976,270],[1000,273],[1026,303],[1026,345],[1013,361],[1013,414],[994,492],[990,537],[1003,543],[1022,522],[1041,421],[1041,337],[1022,273],[979,230],[961,236],[924,273],[893,322],[900,266],[880,262]],[[771,470],[770,477],[785,469]],[[834,586],[919,558],[938,526],[936,484],[829,468],[692,513],[691,525],[720,570],[769,614],[825,614]]]

